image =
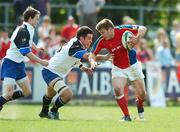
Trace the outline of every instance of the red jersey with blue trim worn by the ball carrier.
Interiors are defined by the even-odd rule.
[[[135,49],[127,50],[123,47],[121,37],[122,34],[129,30],[134,35],[138,32],[138,25],[120,25],[114,28],[114,38],[105,40],[102,36],[98,38],[92,46],[91,52],[95,55],[101,49],[105,48],[114,54],[113,64],[119,68],[125,69],[137,62]]]

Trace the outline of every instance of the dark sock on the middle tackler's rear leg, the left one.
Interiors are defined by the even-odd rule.
[[[49,112],[49,105],[51,101],[51,98],[48,98],[46,95],[43,96],[43,107],[41,110],[43,113],[47,114]]]

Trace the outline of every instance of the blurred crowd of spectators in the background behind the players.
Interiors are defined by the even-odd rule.
[[[14,0],[15,16],[18,18],[16,21],[17,25],[22,24],[22,12],[32,2],[34,0]],[[34,3],[34,7],[41,12],[41,18],[35,32],[34,41],[38,47],[44,48],[46,52],[33,52],[40,58],[50,59],[57,49],[61,48],[76,35],[76,31],[81,25],[91,27],[95,32],[95,38],[98,37],[95,25],[98,13],[105,5],[105,0],[79,0],[76,9],[76,15],[80,18],[79,24],[75,22],[73,16],[69,16],[66,24],[61,29],[58,29],[51,21],[50,0],[40,0],[38,2]],[[136,22],[130,16],[124,16],[120,24],[136,24]],[[0,60],[6,55],[6,51],[10,46],[9,37],[7,30],[0,31]],[[142,64],[156,60],[161,63],[163,69],[174,66],[180,67],[180,22],[174,20],[169,32],[160,27],[153,35],[147,34],[147,37],[142,38],[135,48],[137,50],[137,58]]]

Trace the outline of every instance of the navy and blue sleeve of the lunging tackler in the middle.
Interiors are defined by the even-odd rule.
[[[88,53],[86,49],[83,49],[80,45],[73,44],[69,49],[69,56],[82,59],[84,54]]]

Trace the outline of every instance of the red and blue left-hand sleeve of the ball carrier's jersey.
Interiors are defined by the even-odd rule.
[[[98,54],[101,49],[103,49],[102,45],[102,36],[100,36],[92,45],[90,52],[93,54]]]

